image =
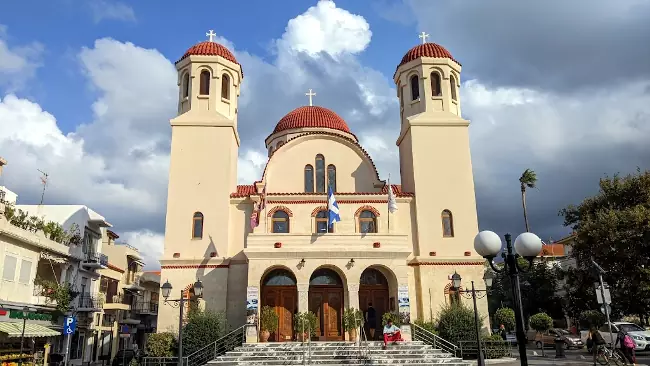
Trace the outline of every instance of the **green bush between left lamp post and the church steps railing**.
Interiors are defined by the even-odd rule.
[[[226,318],[223,313],[194,310],[187,314],[183,327],[183,354],[189,355],[223,336]]]

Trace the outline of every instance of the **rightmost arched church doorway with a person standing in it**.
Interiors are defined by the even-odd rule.
[[[375,268],[366,268],[361,273],[359,281],[359,307],[363,312],[364,318],[366,311],[368,311],[369,304],[375,308],[377,319],[375,324],[375,339],[380,339],[382,333],[381,319],[384,313],[389,312],[389,295],[388,295],[388,281],[386,276]],[[364,325],[366,336],[370,338],[370,326],[366,322]]]

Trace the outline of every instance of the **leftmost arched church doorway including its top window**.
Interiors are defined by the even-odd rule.
[[[262,306],[275,308],[278,314],[278,330],[271,333],[269,341],[287,342],[293,340],[293,314],[298,308],[296,277],[291,271],[278,268],[269,272],[262,280]]]

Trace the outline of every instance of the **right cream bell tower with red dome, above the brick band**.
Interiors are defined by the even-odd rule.
[[[461,117],[461,65],[444,47],[410,49],[395,71],[402,188],[415,192],[416,256],[477,256],[478,232],[469,121]]]

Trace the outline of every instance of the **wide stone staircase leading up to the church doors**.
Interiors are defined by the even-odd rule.
[[[244,343],[208,365],[470,365],[423,342],[382,349],[382,342]]]

